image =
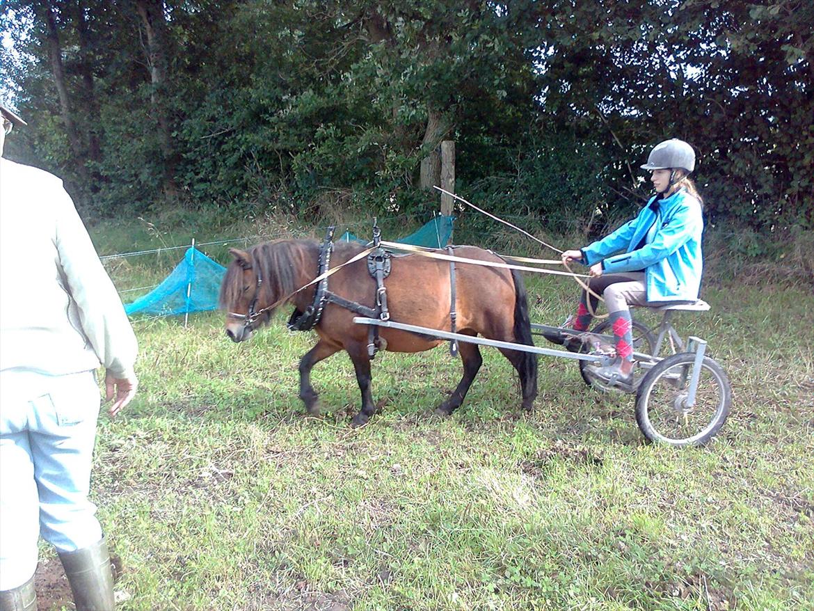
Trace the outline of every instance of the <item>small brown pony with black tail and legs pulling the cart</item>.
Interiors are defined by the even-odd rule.
[[[359,244],[339,242],[330,267],[348,262],[363,249]],[[220,302],[227,312],[226,335],[232,341],[249,339],[257,327],[269,322],[274,308],[284,301],[300,312],[312,303],[316,285],[295,291],[317,277],[320,246],[316,241],[278,240],[247,251],[232,248],[230,253],[234,261],[226,269]],[[456,247],[454,253],[456,257],[503,262],[497,255],[474,246]],[[394,256],[391,262],[391,273],[384,280],[391,319],[449,331],[452,294],[449,262],[417,254]],[[457,332],[533,345],[526,289],[517,272],[456,262],[455,276]],[[330,275],[328,289],[348,301],[373,308],[376,282],[370,275],[366,257]],[[318,395],[311,385],[311,369],[339,350],[348,352],[356,369],[362,401],[361,411],[352,421],[354,426],[367,423],[375,411],[370,393],[369,328],[353,322],[353,317],[358,315],[343,306],[327,303],[322,319],[314,327],[319,341],[300,360],[300,398],[309,413],[318,414]],[[392,328],[380,328],[379,335],[382,348],[393,352],[422,352],[443,343],[443,340]],[[477,345],[461,342],[459,349],[463,377],[452,396],[436,410],[443,415],[452,414],[461,405],[483,362]],[[519,374],[523,407],[531,409],[537,394],[536,354],[500,350]]]

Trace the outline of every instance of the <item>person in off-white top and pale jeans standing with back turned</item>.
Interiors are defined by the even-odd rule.
[[[0,154],[13,126],[0,105]],[[88,500],[99,389],[115,416],[136,393],[138,345],[62,181],[0,158],[0,611],[37,609],[37,538],[77,609],[112,611],[113,578]]]

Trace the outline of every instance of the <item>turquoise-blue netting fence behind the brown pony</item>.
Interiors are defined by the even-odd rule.
[[[443,248],[448,244],[453,232],[454,217],[435,216],[418,231],[396,240],[403,244]],[[366,243],[356,235],[346,231],[340,240]],[[218,243],[221,244],[221,243]],[[174,247],[173,247],[174,248]],[[132,255],[155,251],[128,253]],[[107,258],[107,257],[103,257]],[[128,316],[152,314],[171,316],[217,310],[217,298],[221,290],[221,280],[226,268],[213,261],[194,246],[187,248],[184,258],[161,284],[151,292],[125,306]]]

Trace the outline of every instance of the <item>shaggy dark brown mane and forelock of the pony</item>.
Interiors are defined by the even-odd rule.
[[[259,273],[263,280],[257,295],[258,307],[270,306],[300,288],[298,279],[303,270],[309,278],[316,278],[319,247],[317,240],[275,240],[249,248],[246,252],[251,257],[252,273]],[[334,248],[335,253],[361,250],[358,244],[348,242],[338,242]],[[235,260],[226,267],[221,283],[218,300],[221,309],[228,310],[242,294],[243,268]],[[272,312],[269,311],[265,320],[270,318]]]

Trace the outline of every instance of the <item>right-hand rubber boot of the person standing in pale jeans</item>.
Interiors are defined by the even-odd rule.
[[[61,552],[59,560],[65,567],[77,611],[113,611],[113,572],[104,539],[76,552]]]

